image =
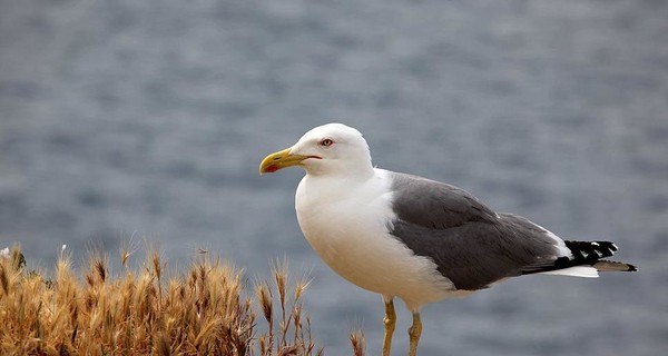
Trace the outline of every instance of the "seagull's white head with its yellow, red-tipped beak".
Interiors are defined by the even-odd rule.
[[[343,123],[318,126],[304,134],[291,148],[268,155],[259,172],[299,166],[307,175],[369,177],[373,174],[369,145],[356,129]]]

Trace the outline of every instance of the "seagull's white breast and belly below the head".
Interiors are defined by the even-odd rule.
[[[416,310],[454,287],[431,259],[415,256],[389,233],[390,185],[381,169],[365,181],[306,176],[295,197],[297,219],[306,240],[338,275]]]

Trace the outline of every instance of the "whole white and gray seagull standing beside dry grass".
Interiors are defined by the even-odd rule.
[[[302,167],[295,194],[304,237],[340,276],[377,293],[385,304],[383,356],[396,325],[394,298],[413,314],[409,355],[422,333],[420,309],[463,297],[509,277],[635,271],[606,260],[609,241],[569,241],[513,214],[494,212],[463,189],[375,168],[354,128],[327,123],[268,155],[261,174]]]

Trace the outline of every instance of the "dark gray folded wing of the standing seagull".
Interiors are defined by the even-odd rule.
[[[474,290],[551,265],[556,240],[525,218],[497,215],[469,192],[391,172],[395,220],[391,234],[430,257],[458,289]]]

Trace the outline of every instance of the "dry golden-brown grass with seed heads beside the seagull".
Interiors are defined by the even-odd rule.
[[[292,284],[286,264],[275,264],[273,280],[257,281],[250,297],[242,273],[219,259],[203,255],[166,280],[159,254],[131,270],[131,253],[121,249],[117,278],[96,254],[82,276],[62,254],[52,278],[26,270],[16,247],[0,256],[0,354],[323,354],[301,301],[307,281]],[[361,334],[351,342],[353,354],[363,355]]]

